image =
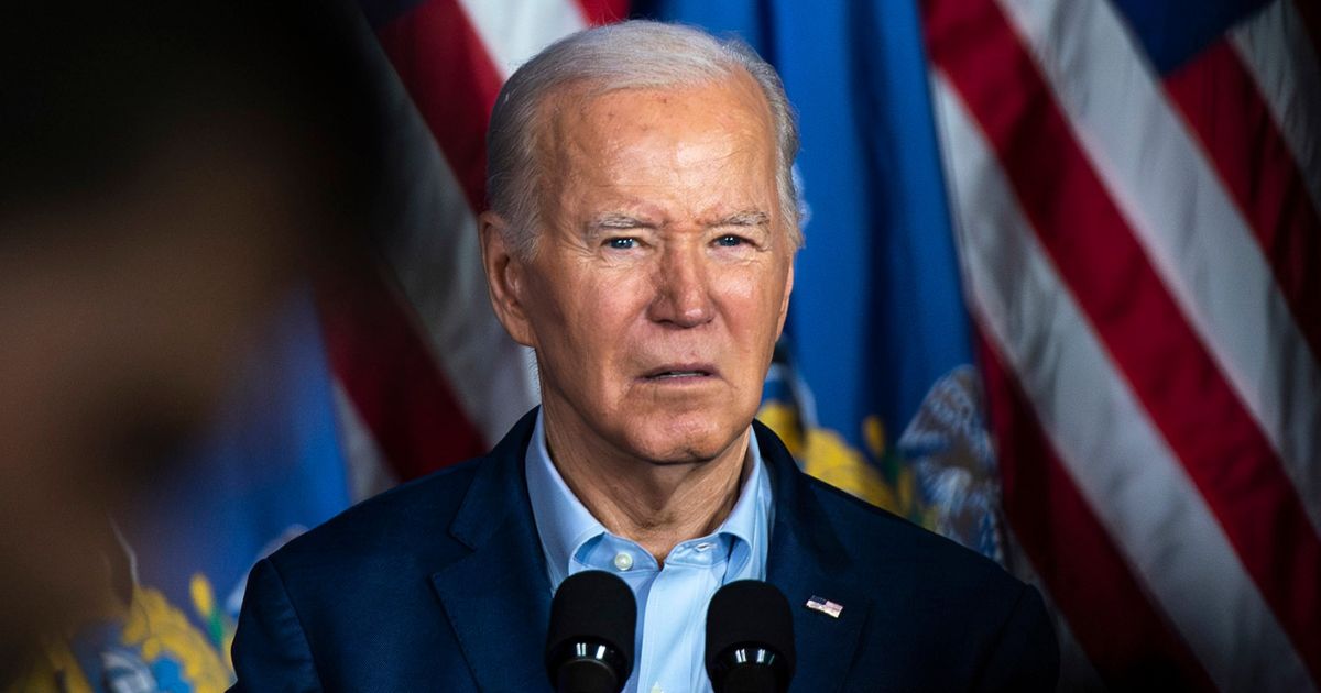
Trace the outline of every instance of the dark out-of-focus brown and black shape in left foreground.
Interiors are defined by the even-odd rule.
[[[52,5],[0,17],[0,688],[122,609],[111,517],[176,471],[375,177],[325,11]]]

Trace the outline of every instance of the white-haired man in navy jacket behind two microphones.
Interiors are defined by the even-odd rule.
[[[794,607],[794,690],[1053,688],[1034,590],[807,479],[753,422],[799,246],[766,63],[686,28],[592,29],[510,78],[487,145],[490,298],[543,405],[259,564],[240,689],[546,689],[548,605],[585,569],[638,598],[626,690],[709,690],[707,602],[742,578]]]

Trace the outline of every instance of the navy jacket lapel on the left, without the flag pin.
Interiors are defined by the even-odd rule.
[[[523,480],[526,416],[481,465],[450,525],[473,553],[432,576],[481,690],[538,690],[551,585]]]

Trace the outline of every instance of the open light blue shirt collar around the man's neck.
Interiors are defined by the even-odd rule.
[[[729,535],[736,544],[745,544],[748,549],[753,549],[750,553],[757,556],[765,554],[768,545],[771,502],[770,478],[761,459],[756,432],[748,436],[748,454],[752,458],[752,473],[738,490],[738,500],[734,502],[729,516],[711,536]],[[536,425],[524,455],[524,467],[532,517],[542,540],[542,550],[546,553],[551,589],[555,590],[568,577],[571,561],[579,548],[608,532],[573,495],[551,462],[550,449],[546,446],[543,409],[536,412]],[[756,572],[765,573],[764,558],[760,562],[760,569]]]

